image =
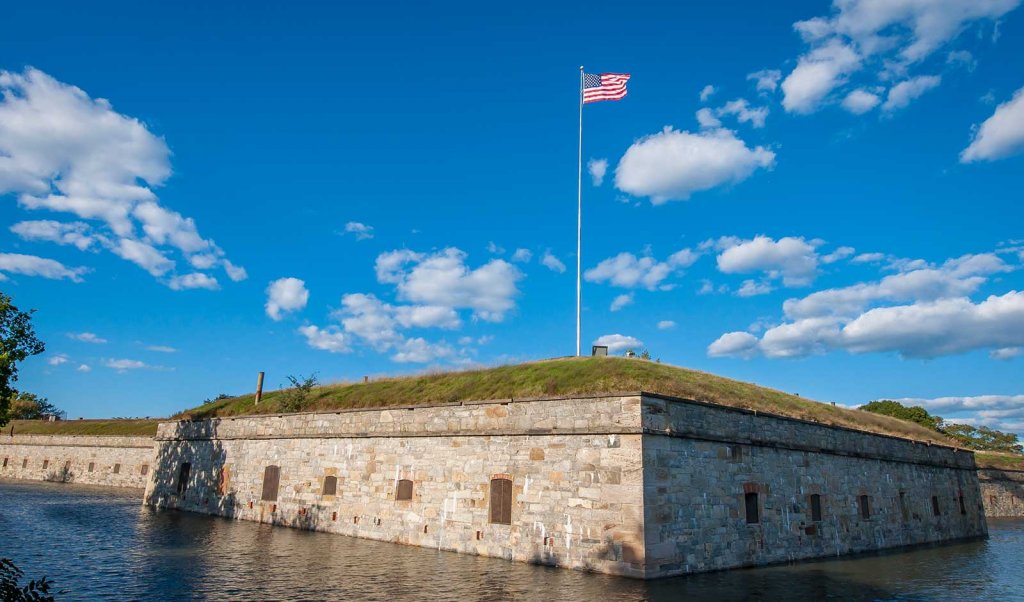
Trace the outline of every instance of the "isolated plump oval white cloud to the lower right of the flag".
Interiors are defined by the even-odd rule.
[[[774,163],[774,153],[764,146],[751,148],[726,129],[691,133],[666,127],[626,150],[615,168],[615,186],[660,205],[740,182]]]

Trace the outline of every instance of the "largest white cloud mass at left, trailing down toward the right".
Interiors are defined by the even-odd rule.
[[[80,249],[91,239],[158,277],[174,268],[169,250],[226,262],[190,218],[159,204],[154,188],[171,174],[170,150],[144,124],[34,69],[0,72],[0,195],[106,227],[86,234],[83,222],[37,223],[19,235]]]

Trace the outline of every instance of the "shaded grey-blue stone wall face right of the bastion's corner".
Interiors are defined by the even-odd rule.
[[[647,576],[987,534],[970,451],[654,395],[643,425]]]

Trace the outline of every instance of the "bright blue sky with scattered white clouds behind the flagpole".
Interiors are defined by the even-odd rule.
[[[19,386],[571,354],[583,63],[632,74],[584,111],[585,348],[1024,432],[1019,4],[8,7]]]

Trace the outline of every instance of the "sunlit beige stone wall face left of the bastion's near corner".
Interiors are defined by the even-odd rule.
[[[145,500],[642,576],[641,436],[637,395],[163,423]]]

